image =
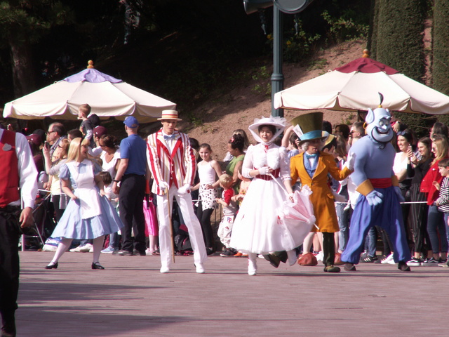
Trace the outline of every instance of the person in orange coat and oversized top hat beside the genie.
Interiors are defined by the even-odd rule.
[[[334,233],[338,232],[339,227],[334,197],[328,186],[328,174],[335,180],[343,180],[352,171],[349,167],[344,167],[340,171],[333,155],[328,152],[321,152],[326,140],[326,136],[323,137],[321,131],[322,112],[302,114],[293,119],[291,123],[295,126],[293,130],[300,137],[299,146],[304,150],[304,152],[290,159],[292,184],[295,184],[299,179],[303,186],[308,185],[310,187],[312,191],[310,199],[314,206],[316,226],[318,227],[312,227],[312,231],[323,233],[324,271],[340,272],[340,268],[334,266]],[[310,248],[308,242],[310,242],[310,237],[304,240],[304,253],[307,253],[307,249]]]

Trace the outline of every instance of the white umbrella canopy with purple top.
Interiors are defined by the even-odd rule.
[[[86,69],[55,84],[6,103],[4,117],[18,119],[76,119],[78,107],[87,103],[98,117],[125,119],[133,115],[140,123],[156,121],[162,110],[175,103],[131,86],[95,69]]]

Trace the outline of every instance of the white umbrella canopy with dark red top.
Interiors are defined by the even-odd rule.
[[[368,110],[448,114],[449,96],[420,84],[387,65],[358,58],[309,81],[274,94],[274,107],[291,110]]]

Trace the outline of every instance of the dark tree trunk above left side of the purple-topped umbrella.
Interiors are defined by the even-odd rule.
[[[18,98],[34,91],[36,78],[29,44],[15,44],[10,41],[10,45],[11,61],[13,63],[14,95]]]

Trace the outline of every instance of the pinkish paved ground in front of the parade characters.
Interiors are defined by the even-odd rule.
[[[445,336],[449,270],[360,264],[327,274],[321,266],[278,269],[259,259],[176,258],[161,274],[156,256],[20,253],[18,336]]]

